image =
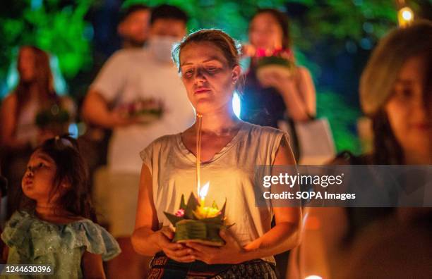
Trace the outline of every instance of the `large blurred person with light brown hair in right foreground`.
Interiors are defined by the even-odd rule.
[[[372,120],[373,152],[344,152],[333,164],[432,164],[432,41],[424,39],[428,37],[431,21],[419,20],[380,40],[360,81],[361,106]],[[310,209],[308,218],[317,225],[305,230],[296,254],[300,271],[312,270],[318,260],[318,275],[325,267],[330,278],[431,278],[426,264],[431,263],[430,216],[426,207]],[[318,238],[313,240],[312,235]],[[322,259],[310,256],[317,254],[317,245],[311,246],[317,242],[323,247]],[[349,267],[344,264],[348,262]]]

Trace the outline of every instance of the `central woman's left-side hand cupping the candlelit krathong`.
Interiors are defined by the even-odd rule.
[[[191,255],[191,249],[185,247],[184,244],[173,243],[171,240],[174,238],[174,231],[168,226],[163,227],[156,232],[157,245],[162,251],[174,261],[183,263],[191,263],[195,261],[195,257]]]

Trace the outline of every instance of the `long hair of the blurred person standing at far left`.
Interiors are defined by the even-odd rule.
[[[37,94],[40,104],[42,106],[48,106],[52,102],[59,101],[59,97],[54,91],[53,77],[51,67],[49,66],[49,56],[42,49],[36,46],[21,46],[18,54],[17,68],[18,73],[20,70],[20,59],[21,52],[23,49],[30,49],[35,56],[35,84],[37,87]],[[15,117],[18,119],[21,109],[27,101],[30,100],[30,84],[29,82],[22,80],[18,81],[18,85],[15,89],[15,94],[18,100],[17,110]]]

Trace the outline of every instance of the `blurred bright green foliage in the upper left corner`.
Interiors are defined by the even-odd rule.
[[[84,20],[91,4],[91,0],[2,1],[8,9],[2,9],[0,16],[0,75],[6,76],[17,46],[25,44],[56,55],[68,78],[91,66],[91,26]]]

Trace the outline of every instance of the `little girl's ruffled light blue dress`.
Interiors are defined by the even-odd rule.
[[[104,261],[120,253],[114,237],[88,219],[54,224],[25,211],[13,213],[1,239],[9,247],[8,264],[43,264],[54,271],[53,275],[31,278],[83,278],[81,257],[85,251],[101,254]],[[27,277],[30,275],[15,278]]]

